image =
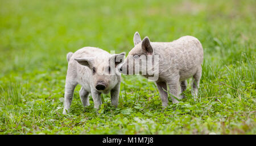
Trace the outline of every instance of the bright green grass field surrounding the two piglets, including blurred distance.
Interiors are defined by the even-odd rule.
[[[255,1],[1,1],[0,134],[256,134]],[[82,107],[78,86],[62,115],[68,52],[129,52],[151,41],[197,37],[204,48],[199,99],[191,80],[162,110],[158,90],[122,76],[117,109]]]

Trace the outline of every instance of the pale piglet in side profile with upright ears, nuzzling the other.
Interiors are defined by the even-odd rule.
[[[172,102],[177,103],[177,99],[184,98],[181,93],[187,89],[186,80],[191,77],[192,95],[197,98],[203,57],[203,47],[196,37],[183,36],[171,42],[151,42],[148,37],[141,40],[139,33],[135,32],[134,48],[129,52],[119,71],[123,74],[135,74],[138,72],[138,66],[139,74],[144,77],[150,78],[157,74],[154,81],[162,99],[162,106],[166,107],[167,87]],[[148,66],[150,64],[153,65]],[[143,69],[146,70],[144,74]],[[131,70],[135,71],[130,72]]]

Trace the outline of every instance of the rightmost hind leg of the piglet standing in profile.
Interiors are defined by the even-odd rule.
[[[200,65],[199,69],[197,72],[193,75],[193,81],[192,81],[192,88],[191,88],[191,94],[194,98],[194,101],[197,99],[197,94],[198,94],[198,88],[199,88],[199,82],[202,74],[202,67]]]

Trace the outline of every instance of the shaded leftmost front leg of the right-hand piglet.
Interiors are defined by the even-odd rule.
[[[162,106],[164,109],[168,106],[168,93],[166,82],[156,82],[156,86],[158,87],[160,98],[162,100]]]

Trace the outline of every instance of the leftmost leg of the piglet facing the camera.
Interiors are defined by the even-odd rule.
[[[65,95],[64,95],[64,109],[63,109],[63,114],[67,114],[67,111],[69,110],[72,99],[73,99],[73,93],[75,90],[77,83],[73,81],[68,81],[66,79],[66,84],[65,84]]]

